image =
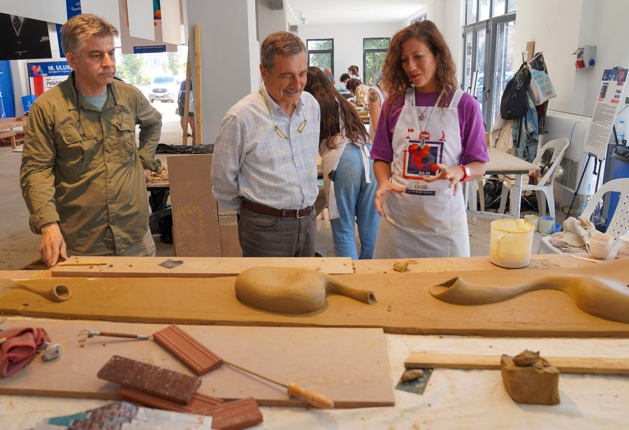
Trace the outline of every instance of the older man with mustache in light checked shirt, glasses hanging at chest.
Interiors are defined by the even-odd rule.
[[[319,104],[303,93],[305,45],[278,31],[262,43],[263,83],[225,115],[212,193],[238,210],[243,257],[315,256]]]

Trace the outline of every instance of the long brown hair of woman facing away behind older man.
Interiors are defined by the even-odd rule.
[[[335,148],[334,137],[340,133],[340,114],[345,124],[345,136],[352,142],[365,144],[369,135],[356,109],[345,97],[341,96],[320,68],[308,68],[308,81],[304,91],[308,91],[319,102],[321,108],[321,125],[319,138],[326,141],[326,147]]]

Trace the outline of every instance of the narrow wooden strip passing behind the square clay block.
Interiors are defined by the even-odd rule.
[[[517,354],[517,353],[516,353]],[[629,375],[629,359],[600,357],[546,357],[562,373],[613,373]],[[500,370],[500,355],[411,353],[404,365],[409,369]]]

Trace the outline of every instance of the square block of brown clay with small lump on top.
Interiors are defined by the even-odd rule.
[[[559,403],[559,371],[540,357],[540,353],[524,350],[515,357],[503,354],[500,373],[514,401],[535,405]]]

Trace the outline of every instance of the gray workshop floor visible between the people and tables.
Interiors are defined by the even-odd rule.
[[[181,144],[182,131],[179,117],[175,115],[173,103],[154,103],[164,115],[161,142]],[[29,212],[20,191],[19,170],[22,154],[11,149],[10,144],[0,146],[0,269],[21,269],[39,259],[40,236],[29,229]],[[563,215],[563,214],[559,214]],[[468,223],[473,256],[489,255],[489,223],[479,218],[477,224]],[[533,253],[542,235],[535,233]],[[173,255],[173,246],[162,244],[159,235],[154,236],[157,255]],[[326,219],[317,218],[317,251],[321,255],[333,256],[332,233]]]

